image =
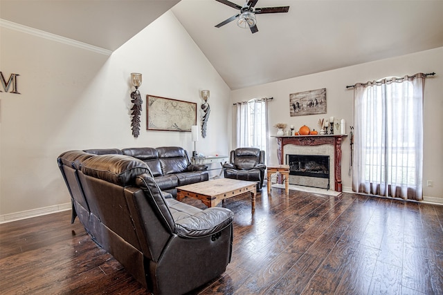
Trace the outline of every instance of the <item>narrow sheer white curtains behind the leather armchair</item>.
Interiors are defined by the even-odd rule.
[[[237,147],[255,147],[268,158],[268,133],[268,99],[238,102]]]

